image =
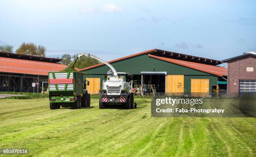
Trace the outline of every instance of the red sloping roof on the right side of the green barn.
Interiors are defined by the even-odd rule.
[[[178,65],[181,65],[181,66],[186,66],[186,67],[189,67],[189,68],[193,68],[193,69],[196,69],[196,70],[199,70],[199,71],[212,73],[214,75],[228,76],[228,69],[220,67],[220,66],[212,66],[212,65],[189,62],[189,61],[181,61],[181,60],[172,59],[172,58],[154,56],[154,55],[151,55],[151,54],[148,54],[148,56],[152,57],[152,58],[157,58],[157,59],[160,59],[160,60],[163,60],[163,61],[167,61],[167,62],[170,62],[170,63],[178,64]]]

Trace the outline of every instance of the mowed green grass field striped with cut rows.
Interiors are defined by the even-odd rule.
[[[38,157],[256,156],[255,118],[154,118],[150,99],[136,99],[131,110],[91,101],[90,108],[50,110],[47,98],[1,99],[0,148]]]

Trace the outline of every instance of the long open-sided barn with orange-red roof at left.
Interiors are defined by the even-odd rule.
[[[48,86],[48,72],[61,71],[61,59],[0,52],[0,91],[41,92]],[[36,83],[36,87],[32,87]]]

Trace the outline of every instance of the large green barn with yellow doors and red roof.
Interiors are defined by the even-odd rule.
[[[133,74],[134,85],[154,85],[156,92],[212,93],[227,78],[218,60],[153,49],[109,61],[118,72]],[[87,90],[97,94],[109,70],[105,64],[80,69],[90,81]]]

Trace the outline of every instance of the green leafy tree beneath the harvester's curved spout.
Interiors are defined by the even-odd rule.
[[[74,55],[73,57],[73,61],[77,58],[77,54]],[[94,58],[88,57],[88,56],[82,56],[80,57],[76,63],[74,63],[74,67],[75,68],[86,68],[88,66],[93,66],[95,64],[99,64],[100,62]]]

